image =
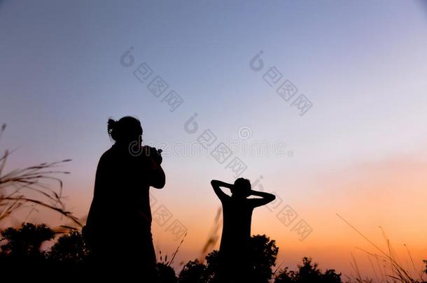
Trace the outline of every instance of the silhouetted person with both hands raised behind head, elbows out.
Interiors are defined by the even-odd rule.
[[[223,234],[219,250],[218,282],[251,282],[251,220],[254,208],[274,201],[276,196],[253,191],[251,182],[244,178],[228,184],[212,180],[211,185],[223,205]],[[225,194],[221,187],[230,189]],[[260,198],[248,198],[260,196]]]

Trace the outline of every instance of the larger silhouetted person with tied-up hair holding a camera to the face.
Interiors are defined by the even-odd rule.
[[[109,119],[108,132],[116,143],[99,160],[83,235],[99,276],[155,282],[149,187],[165,186],[161,150],[141,145],[134,117]]]

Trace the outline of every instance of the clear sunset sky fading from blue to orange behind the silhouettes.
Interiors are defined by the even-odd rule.
[[[358,247],[374,249],[337,213],[385,247],[381,226],[404,266],[404,244],[417,267],[427,259],[425,1],[6,0],[0,34],[0,149],[18,149],[7,168],[73,159],[64,194],[78,217],[111,146],[107,119],[134,115],[144,143],[165,150],[167,184],[153,191],[153,211],[164,205],[188,229],[178,263],[200,256],[220,205],[209,181],[233,182],[233,157],[247,166],[242,177],[260,181],[253,189],[281,199],[255,210],[252,233],[276,240],[283,266],[312,256],[350,274],[353,253],[372,274]],[[130,48],[134,64],[123,66]],[[250,61],[260,51],[257,72]],[[141,82],[133,72],[144,62],[153,74]],[[283,74],[278,85],[297,87],[292,100],[263,78],[271,67]],[[160,98],[147,88],[158,75],[169,85]],[[173,112],[162,101],[169,90],[183,99]],[[300,94],[313,104],[304,115],[292,106]],[[188,133],[195,113],[199,129]],[[224,164],[191,152],[206,129],[214,145],[233,143]],[[269,152],[245,151],[260,143]],[[297,212],[289,226],[277,217],[285,205]],[[302,241],[291,231],[301,219],[312,228]],[[170,254],[179,241],[167,225],[153,222],[153,234]]]

